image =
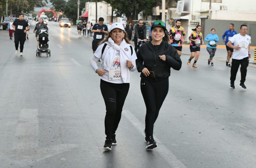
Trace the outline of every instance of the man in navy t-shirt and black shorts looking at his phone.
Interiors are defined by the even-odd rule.
[[[104,39],[104,35],[108,34],[108,26],[103,24],[104,19],[100,17],[98,23],[92,27],[93,39],[92,39],[92,51],[93,53],[98,48],[98,43]],[[100,61],[99,61],[100,62]]]

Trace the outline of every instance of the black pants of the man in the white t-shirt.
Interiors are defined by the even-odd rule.
[[[249,57],[245,57],[243,59],[233,59],[232,58],[232,64],[231,64],[231,70],[230,70],[230,82],[235,82],[236,73],[238,71],[240,64],[241,64],[241,67],[240,67],[241,80],[240,80],[240,82],[241,83],[245,82],[247,67],[249,65]]]

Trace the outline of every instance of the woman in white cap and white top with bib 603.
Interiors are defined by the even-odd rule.
[[[101,69],[98,60],[102,60]],[[127,40],[121,23],[113,23],[106,39],[100,42],[90,64],[101,76],[101,94],[106,105],[105,134],[103,149],[111,150],[116,145],[115,132],[121,119],[124,101],[130,86],[130,71],[136,70],[136,53]]]

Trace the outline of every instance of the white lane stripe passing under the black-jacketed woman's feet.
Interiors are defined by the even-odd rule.
[[[145,125],[142,124],[129,110],[123,110],[122,114],[130,120],[134,127],[145,137],[143,130]],[[155,141],[157,142],[157,147],[153,150],[156,150],[173,168],[187,168],[163,143],[154,136]]]

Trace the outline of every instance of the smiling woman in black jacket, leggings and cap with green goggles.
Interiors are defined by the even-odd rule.
[[[157,147],[153,138],[154,123],[169,89],[170,68],[180,70],[181,59],[176,49],[168,44],[165,23],[155,21],[151,26],[152,40],[137,52],[136,66],[141,72],[140,89],[146,105],[146,149]]]

